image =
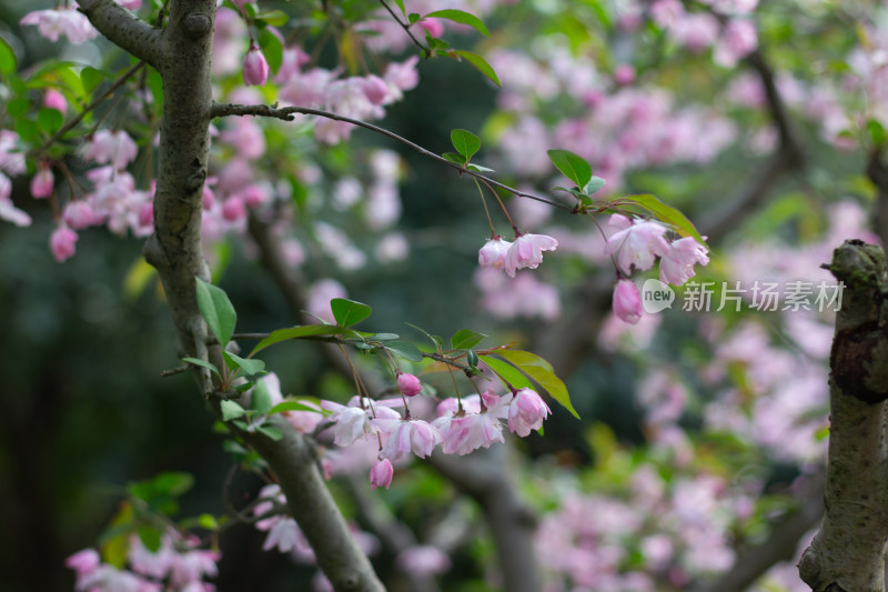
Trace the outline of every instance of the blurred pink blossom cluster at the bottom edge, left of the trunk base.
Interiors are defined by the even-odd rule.
[[[77,573],[75,590],[212,592],[215,586],[204,582],[204,578],[219,573],[219,552],[198,549],[198,543],[194,538],[169,531],[161,538],[160,549],[150,551],[133,534],[127,551],[128,569],[102,563],[94,549],[74,553],[65,565]]]

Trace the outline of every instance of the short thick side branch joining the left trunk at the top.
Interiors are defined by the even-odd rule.
[[[115,46],[158,70],[163,62],[161,29],[155,29],[113,0],[78,0],[80,11]]]

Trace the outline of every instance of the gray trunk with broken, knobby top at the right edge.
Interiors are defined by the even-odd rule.
[[[845,282],[830,352],[829,459],[820,530],[799,562],[815,592],[882,592],[888,541],[888,270],[847,241],[827,267]]]

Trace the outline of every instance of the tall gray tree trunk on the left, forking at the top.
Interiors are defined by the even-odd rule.
[[[160,153],[154,197],[154,234],[145,259],[158,269],[175,325],[180,355],[222,364],[219,347],[208,348],[208,331],[195,298],[194,278],[209,279],[201,250],[201,197],[206,178],[212,109],[210,59],[215,0],[172,0],[168,26],[140,21],[111,0],[81,0],[92,24],[111,41],[148,61],[163,80]],[[199,370],[204,393],[210,374]],[[216,408],[218,404],[211,405]],[[373,572],[321,478],[306,438],[275,418],[283,438],[242,433],[278,475],[293,518],[314,549],[317,563],[337,592],[381,592]]]

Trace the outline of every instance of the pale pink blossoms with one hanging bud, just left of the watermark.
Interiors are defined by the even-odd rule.
[[[612,255],[623,278],[632,275],[633,270],[647,271],[654,267],[657,257],[659,279],[664,283],[684,284],[693,278],[694,265],[709,263],[708,251],[693,237],[669,242],[668,229],[653,220],[629,220],[623,214],[613,214],[608,224],[617,231],[607,239],[605,253]],[[617,281],[614,288],[614,314],[627,323],[637,323],[642,318],[642,297],[638,289],[627,279]]]

